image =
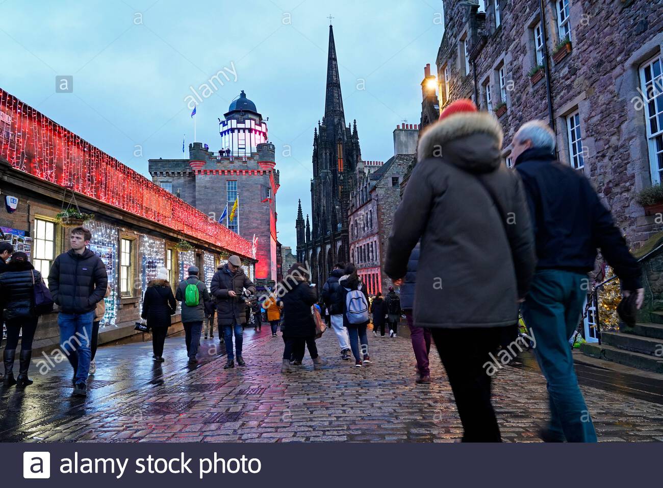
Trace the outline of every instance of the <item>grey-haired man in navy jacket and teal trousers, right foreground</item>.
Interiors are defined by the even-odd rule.
[[[636,293],[638,308],[644,297],[640,266],[582,171],[556,161],[555,133],[545,122],[525,123],[513,141],[511,155],[525,187],[538,257],[522,316],[548,380],[551,420],[542,438],[596,442],[568,339],[587,299],[596,249],[619,276],[623,294]]]

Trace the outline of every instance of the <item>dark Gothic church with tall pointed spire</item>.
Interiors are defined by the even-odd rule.
[[[357,121],[345,125],[333,29],[330,25],[325,114],[314,129],[312,228],[298,209],[297,260],[308,262],[312,281],[322,284],[337,261],[349,260],[347,211],[361,161]]]

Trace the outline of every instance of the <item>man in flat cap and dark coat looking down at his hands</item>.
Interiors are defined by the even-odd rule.
[[[230,256],[226,264],[217,268],[211,279],[211,294],[217,299],[217,323],[219,331],[225,336],[225,351],[228,355],[224,368],[235,367],[233,355],[233,331],[235,333],[235,351],[237,364],[245,366],[242,357],[242,325],[246,323],[247,303],[243,297],[244,290],[255,294],[255,285],[241,268],[239,256]],[[223,329],[221,329],[223,327]]]

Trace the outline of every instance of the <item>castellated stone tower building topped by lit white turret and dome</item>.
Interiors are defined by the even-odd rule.
[[[267,123],[243,90],[223,117],[219,151],[194,142],[188,159],[150,159],[149,171],[154,183],[213,220],[219,220],[227,206],[223,225],[249,242],[255,240],[256,278],[267,283],[277,274],[279,174],[274,169],[274,145],[267,140]]]

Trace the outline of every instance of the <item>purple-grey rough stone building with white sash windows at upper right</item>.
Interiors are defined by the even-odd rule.
[[[638,194],[663,171],[663,0],[445,0],[444,12],[440,110],[464,97],[495,112],[509,166],[518,127],[550,122],[558,159],[632,246],[660,230]]]

